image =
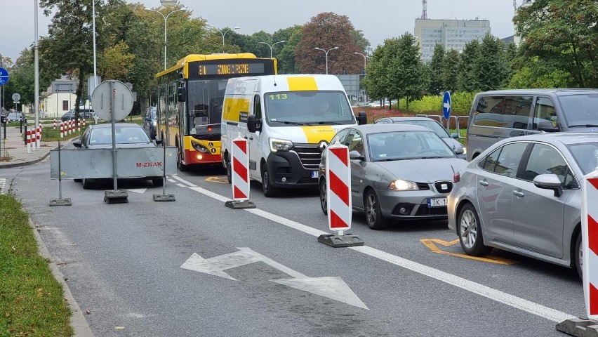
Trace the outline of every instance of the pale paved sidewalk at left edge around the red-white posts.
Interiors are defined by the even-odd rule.
[[[44,127],[51,128],[52,124],[44,124]],[[22,128],[25,131],[25,128]],[[60,145],[69,143],[69,138],[63,138]],[[39,149],[31,150],[27,153],[27,145],[20,133],[20,128],[14,126],[6,126],[6,138],[4,136],[4,128],[2,128],[0,138],[0,169],[7,169],[9,167],[25,166],[35,164],[46,159],[50,155],[50,150],[58,147],[58,142],[46,142],[41,139]]]

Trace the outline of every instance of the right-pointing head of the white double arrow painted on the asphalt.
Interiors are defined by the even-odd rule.
[[[272,279],[272,282],[338,300],[369,310],[340,277],[310,277],[307,279]]]

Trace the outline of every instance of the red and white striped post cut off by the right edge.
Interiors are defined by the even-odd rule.
[[[588,319],[598,319],[598,171],[583,178],[581,237],[583,294]]]

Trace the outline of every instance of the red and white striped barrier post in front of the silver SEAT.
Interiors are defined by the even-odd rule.
[[[344,230],[351,228],[352,220],[349,148],[335,142],[326,151],[328,226],[343,235]]]

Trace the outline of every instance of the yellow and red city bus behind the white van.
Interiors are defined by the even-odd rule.
[[[274,58],[252,53],[187,55],[164,72],[157,88],[157,136],[177,147],[177,166],[220,164],[220,121],[228,79],[277,74]]]

